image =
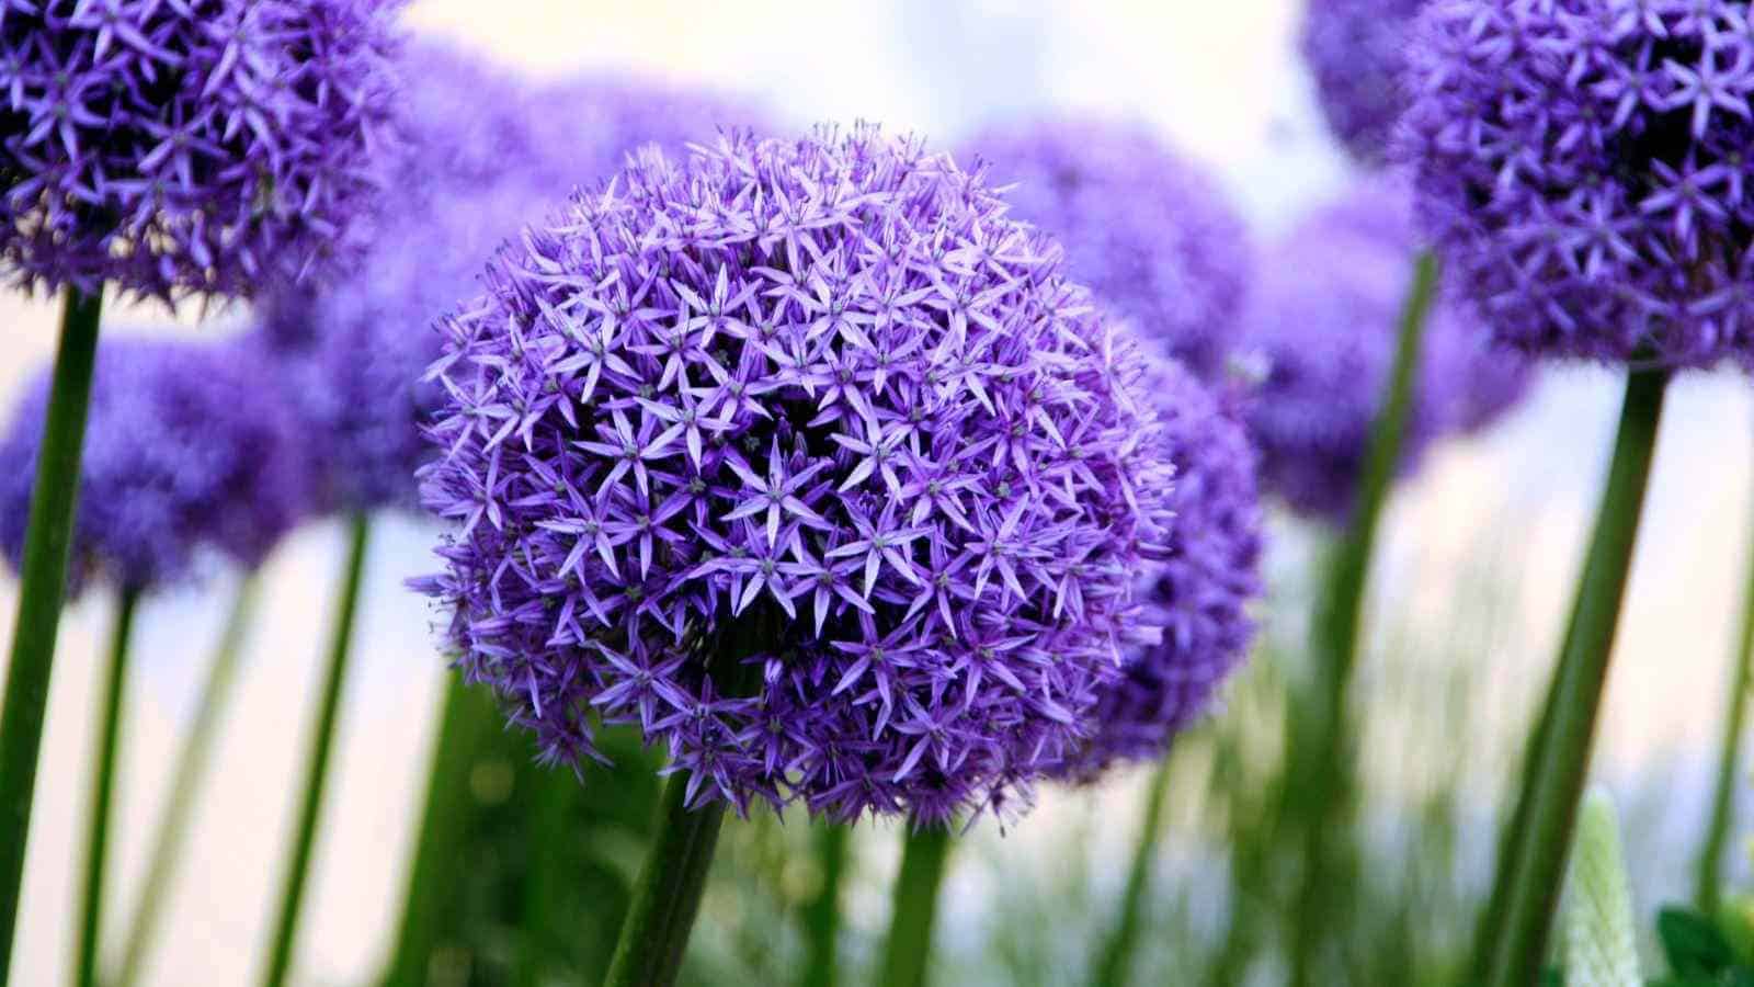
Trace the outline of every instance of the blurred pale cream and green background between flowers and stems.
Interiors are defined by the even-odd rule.
[[[1296,58],[1300,16],[1298,0],[416,0],[410,7],[419,30],[538,76],[624,68],[724,88],[765,100],[798,130],[875,119],[951,146],[982,123],[1045,109],[1137,116],[1209,165],[1261,237],[1349,179]],[[49,358],[54,314],[40,299],[0,297],[7,327],[0,397],[9,400],[23,376]],[[217,334],[244,318],[200,314],[195,306],[181,318],[154,307],[112,309],[107,323]],[[1389,911],[1422,910],[1426,938],[1438,947],[1466,934],[1458,922],[1468,915],[1468,896],[1486,883],[1494,804],[1529,702],[1545,685],[1617,395],[1605,371],[1547,371],[1510,420],[1435,450],[1391,501],[1356,701],[1363,820],[1375,871],[1394,882],[1384,890],[1398,903]],[[1750,388],[1740,374],[1684,376],[1672,392],[1596,753],[1596,776],[1628,817],[1640,911],[1686,892],[1707,808],[1754,525],[1750,425]],[[433,530],[400,516],[374,534],[302,933],[303,983],[370,982],[400,913],[446,674],[431,646],[435,616],[403,580],[431,569]],[[1182,743],[1172,769],[1145,962],[1182,971],[1187,982],[1198,980],[1193,969],[1217,962],[1214,954],[1233,934],[1249,787],[1270,774],[1263,760],[1272,759],[1273,724],[1282,722],[1282,683],[1301,674],[1296,645],[1314,537],[1284,516],[1273,518],[1272,536],[1273,592],[1263,608],[1272,627],[1252,667],[1233,683],[1230,708]],[[307,527],[263,573],[267,592],[244,680],[168,903],[151,983],[242,983],[260,961],[342,537],[339,525]],[[221,581],[142,606],[114,829],[118,919],[135,899],[158,799],[228,594]],[[0,578],[7,632],[14,597],[16,583]],[[65,978],[95,659],[107,625],[102,594],[63,622],[25,875],[19,983]],[[1070,971],[1105,927],[1105,903],[1124,880],[1145,780],[1135,771],[1096,789],[1044,792],[1040,806],[1005,834],[991,822],[977,825],[945,889],[944,982],[1075,982]],[[479,799],[491,801],[496,787],[503,789],[491,771],[472,778]],[[765,862],[763,847],[802,839],[802,824],[788,829],[772,817],[728,829],[693,976],[738,982],[763,964],[784,966],[782,911],[812,880]],[[617,854],[631,873],[637,843]],[[859,829],[844,899],[854,961],[858,943],[886,926],[896,855],[893,832]],[[1747,873],[1743,854],[1735,857],[1731,887]],[[1419,866],[1398,866],[1403,861]],[[772,943],[781,943],[765,954],[749,945],[759,941],[763,922],[779,929]],[[1245,973],[1275,982],[1270,950],[1254,952],[1265,959]],[[1145,969],[1140,976],[1168,982],[1149,980]]]

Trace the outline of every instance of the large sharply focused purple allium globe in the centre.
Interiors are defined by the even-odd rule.
[[[447,321],[423,588],[545,755],[691,799],[1009,806],[1142,634],[1144,357],[979,176],[858,128],[642,151]]]

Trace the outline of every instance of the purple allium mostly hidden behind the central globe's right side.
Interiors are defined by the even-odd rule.
[[[1261,506],[1256,453],[1235,395],[1214,392],[1175,362],[1158,360],[1145,386],[1175,467],[1168,557],[1145,571],[1144,623],[1163,639],[1128,653],[1121,678],[1098,692],[1094,736],[1059,767],[1079,780],[1119,759],[1161,757],[1205,713],[1254,638],[1249,602],[1261,592]]]

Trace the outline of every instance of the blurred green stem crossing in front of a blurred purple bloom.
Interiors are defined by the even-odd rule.
[[[1424,325],[1435,290],[1437,256],[1424,251],[1414,265],[1414,283],[1401,307],[1394,367],[1382,413],[1370,432],[1358,502],[1352,506],[1345,534],[1335,546],[1333,569],[1323,587],[1312,625],[1310,646],[1321,697],[1310,710],[1312,729],[1303,738],[1305,743],[1296,745],[1301,750],[1294,748],[1291,760],[1294,766],[1303,766],[1293,783],[1308,787],[1307,811],[1300,813],[1305,820],[1305,873],[1298,889],[1298,922],[1291,954],[1291,982],[1298,987],[1324,982],[1317,969],[1321,954],[1340,945],[1331,922],[1344,917],[1344,910],[1335,906],[1331,896],[1354,883],[1352,875],[1345,873],[1349,868],[1335,859],[1333,847],[1335,839],[1347,834],[1347,813],[1352,803],[1354,766],[1352,738],[1345,729],[1347,692],[1358,664],[1365,587],[1377,543],[1377,523],[1401,458],[1401,439],[1407,434]]]

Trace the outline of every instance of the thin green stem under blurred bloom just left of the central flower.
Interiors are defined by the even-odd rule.
[[[305,896],[305,878],[310,875],[310,848],[316,843],[317,817],[323,811],[323,785],[328,776],[330,743],[335,739],[335,718],[340,713],[342,683],[347,678],[347,652],[353,643],[353,618],[360,604],[360,576],[365,571],[365,546],[370,523],[363,513],[351,520],[347,569],[342,581],[340,604],[335,613],[335,638],[330,646],[328,669],[323,673],[323,697],[317,722],[310,736],[310,760],[305,767],[303,803],[293,831],[293,847],[286,862],[286,885],[281,894],[281,913],[274,924],[274,948],[261,976],[265,987],[286,983],[293,962],[293,941],[298,934],[298,906]]]

